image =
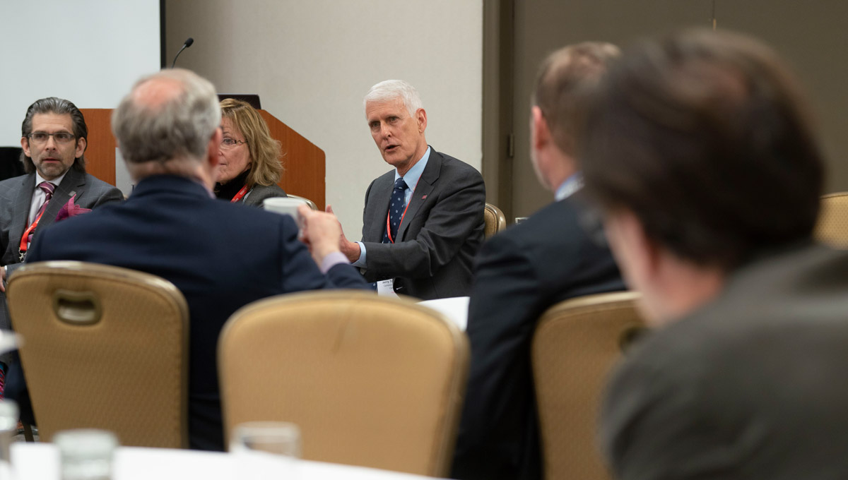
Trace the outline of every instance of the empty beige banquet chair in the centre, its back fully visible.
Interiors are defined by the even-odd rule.
[[[226,436],[294,422],[305,459],[447,476],[468,344],[441,313],[360,291],[280,295],[235,312],[218,351]]]

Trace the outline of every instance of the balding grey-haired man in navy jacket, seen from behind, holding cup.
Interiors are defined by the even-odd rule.
[[[224,449],[215,348],[232,312],[298,290],[368,288],[338,250],[332,215],[304,209],[313,259],[291,217],[215,200],[219,125],[209,81],[181,69],[139,80],[112,119],[136,189],[37,235],[29,258],[116,265],[176,285],[191,315],[190,443],[202,450]]]

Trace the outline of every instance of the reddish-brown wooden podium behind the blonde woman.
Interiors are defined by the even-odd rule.
[[[117,142],[112,135],[112,110],[109,108],[81,108],[88,126],[86,171],[98,179],[114,185],[114,149]],[[277,185],[293,195],[304,196],[321,210],[325,201],[325,160],[321,148],[303,135],[289,128],[271,113],[259,110],[268,124],[271,136],[282,143],[282,176]]]

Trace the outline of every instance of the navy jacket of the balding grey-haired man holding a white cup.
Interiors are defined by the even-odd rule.
[[[142,180],[121,205],[37,234],[27,261],[105,263],[175,284],[191,315],[192,448],[223,450],[215,349],[226,319],[239,307],[271,295],[369,288],[347,264],[321,274],[297,236],[298,227],[287,215],[218,201],[190,179],[158,176]]]

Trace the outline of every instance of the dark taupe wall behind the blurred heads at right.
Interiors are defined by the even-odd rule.
[[[642,36],[689,25],[711,25],[711,0],[516,0],[513,212],[528,215],[550,202],[529,164],[527,115],[533,78],[544,56],[577,41],[626,47]],[[826,189],[848,190],[848,2],[717,0],[718,28],[760,37],[795,68],[820,120],[828,160]],[[488,162],[487,162],[488,166]]]

